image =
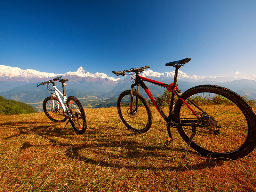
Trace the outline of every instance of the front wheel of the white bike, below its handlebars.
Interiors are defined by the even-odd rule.
[[[43,109],[45,115],[55,123],[64,122],[67,120],[63,108],[56,97],[46,97],[43,102]]]

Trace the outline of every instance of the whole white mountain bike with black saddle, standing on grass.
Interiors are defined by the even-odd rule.
[[[61,78],[62,76],[37,84],[37,87],[47,84],[47,89],[51,91],[51,96],[45,98],[43,102],[44,113],[50,120],[56,123],[65,122],[68,118],[68,122],[70,122],[75,132],[78,134],[84,133],[87,128],[84,108],[75,96],[69,96],[67,98],[64,86],[66,85],[66,81],[68,81],[68,79]],[[62,83],[63,94],[56,88],[55,81]],[[55,92],[55,95],[53,92]],[[64,126],[64,128],[67,126],[67,124]]]

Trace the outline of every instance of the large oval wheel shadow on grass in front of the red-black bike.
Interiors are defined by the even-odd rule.
[[[170,157],[165,153],[166,151],[168,152],[171,150],[172,154],[184,154],[184,150],[178,148],[164,149],[161,146],[156,147],[151,145],[140,146],[137,144],[140,143],[124,140],[121,142],[112,141],[109,143],[76,145],[69,147],[66,150],[66,155],[69,158],[76,159],[87,164],[130,170],[188,171],[213,168],[222,165],[222,161],[211,159],[206,159],[201,163],[188,164],[182,159],[182,156],[178,156],[177,158],[177,155],[173,155],[173,159],[170,160]],[[189,153],[189,156],[199,155],[192,150],[189,150]]]

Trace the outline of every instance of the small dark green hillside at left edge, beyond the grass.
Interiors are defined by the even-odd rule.
[[[0,95],[0,114],[4,114],[4,108],[7,106],[10,110],[16,109],[19,113],[37,113],[30,105],[15,100],[7,100]]]

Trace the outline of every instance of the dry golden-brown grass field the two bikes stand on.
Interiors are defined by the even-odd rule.
[[[192,148],[152,108],[153,124],[138,135],[116,108],[85,109],[87,130],[76,135],[43,112],[1,116],[0,191],[254,191],[256,152],[212,160]]]

